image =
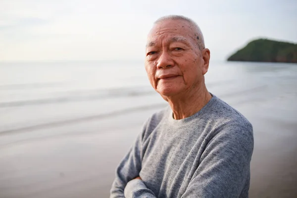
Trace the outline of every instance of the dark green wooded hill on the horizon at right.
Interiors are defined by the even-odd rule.
[[[227,60],[297,63],[297,44],[258,39],[249,42]]]

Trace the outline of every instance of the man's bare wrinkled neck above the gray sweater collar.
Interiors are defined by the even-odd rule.
[[[173,111],[174,119],[180,120],[197,113],[207,104],[211,97],[211,94],[203,85],[197,90],[184,93],[182,97],[170,97],[167,101]]]

